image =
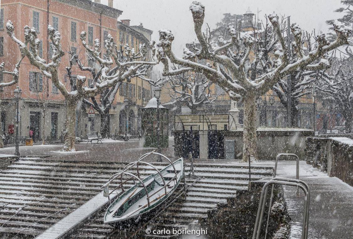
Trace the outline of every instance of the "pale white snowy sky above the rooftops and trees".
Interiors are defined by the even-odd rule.
[[[327,31],[325,21],[341,16],[334,10],[341,6],[340,0],[199,0],[205,6],[205,23],[211,28],[223,18],[223,13],[243,14],[250,7],[257,14],[275,11],[291,16],[291,23],[297,22],[303,30]],[[108,0],[102,0],[108,4]],[[152,40],[159,40],[158,30],[168,28],[175,36],[173,49],[177,56],[183,54],[185,43],[196,39],[189,6],[192,0],[114,0],[114,7],[122,10],[121,19],[131,19],[131,25],[143,24],[153,31]],[[205,25],[206,27],[206,25]]]

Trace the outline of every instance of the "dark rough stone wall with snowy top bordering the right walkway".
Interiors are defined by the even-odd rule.
[[[309,137],[305,153],[308,164],[353,186],[353,139]]]

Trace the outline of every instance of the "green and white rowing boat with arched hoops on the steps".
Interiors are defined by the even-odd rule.
[[[159,155],[166,158],[170,164],[158,170],[154,165],[142,161],[149,155]],[[141,179],[138,171],[141,164],[151,167],[156,173]],[[138,161],[126,165],[124,170],[110,177],[109,181],[103,186],[108,197],[117,188],[122,189],[122,194],[110,203],[104,215],[104,223],[115,226],[130,225],[143,222],[153,216],[154,211],[158,210],[159,206],[167,201],[184,177],[183,165],[183,158],[171,162],[166,156],[154,151],[146,153]],[[127,172],[133,167],[137,169],[136,175]],[[123,179],[123,176],[127,176],[128,179]],[[119,180],[120,185],[109,192],[109,183],[115,180]],[[123,184],[131,180],[135,184],[124,191]]]

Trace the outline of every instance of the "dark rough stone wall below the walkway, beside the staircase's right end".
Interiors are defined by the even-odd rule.
[[[219,203],[217,207],[208,210],[207,217],[200,218],[201,228],[208,228],[208,238],[252,238],[260,193],[264,182],[254,181],[248,190],[237,190],[235,196],[228,197],[227,203]],[[267,205],[271,190],[268,191]],[[287,228],[289,233],[290,218],[286,212],[283,191],[279,185],[274,187],[273,212],[268,224],[267,238],[272,238],[280,228]],[[276,205],[283,205],[282,212],[276,210]],[[268,211],[268,206],[265,212]],[[260,238],[264,238],[267,213],[264,214]],[[283,230],[283,229],[281,229]],[[281,237],[282,238],[282,237]]]

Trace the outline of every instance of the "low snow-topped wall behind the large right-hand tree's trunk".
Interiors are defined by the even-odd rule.
[[[235,140],[235,158],[243,154],[243,131],[225,131],[225,140]],[[307,129],[258,129],[257,153],[261,159],[274,160],[279,153],[295,153],[305,158],[305,139],[313,136]]]

